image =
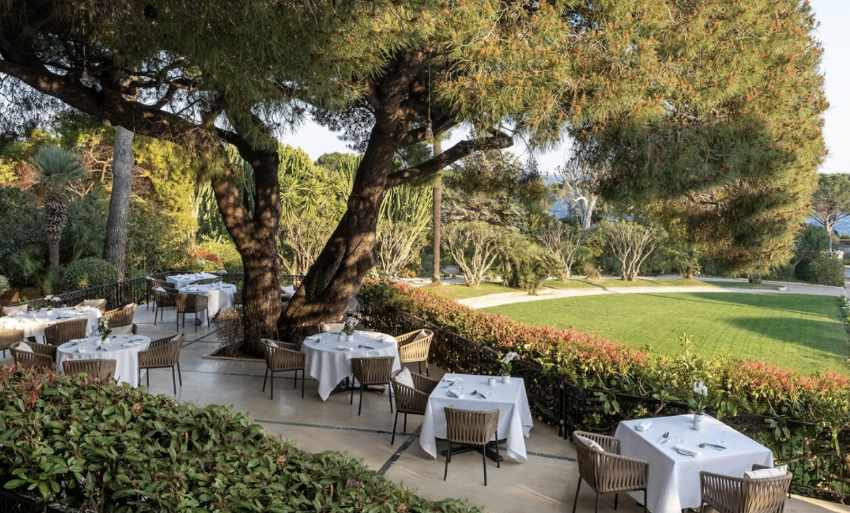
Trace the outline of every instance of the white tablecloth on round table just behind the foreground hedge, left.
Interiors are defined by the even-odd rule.
[[[82,341],[69,341],[57,347],[56,367],[59,372],[65,372],[62,369],[62,362],[65,360],[96,358],[116,360],[114,376],[116,381],[139,386],[139,352],[148,348],[150,336],[111,335],[103,344],[105,351],[97,350],[94,342],[99,340],[100,335],[94,335]],[[125,344],[133,345],[125,347]]]

